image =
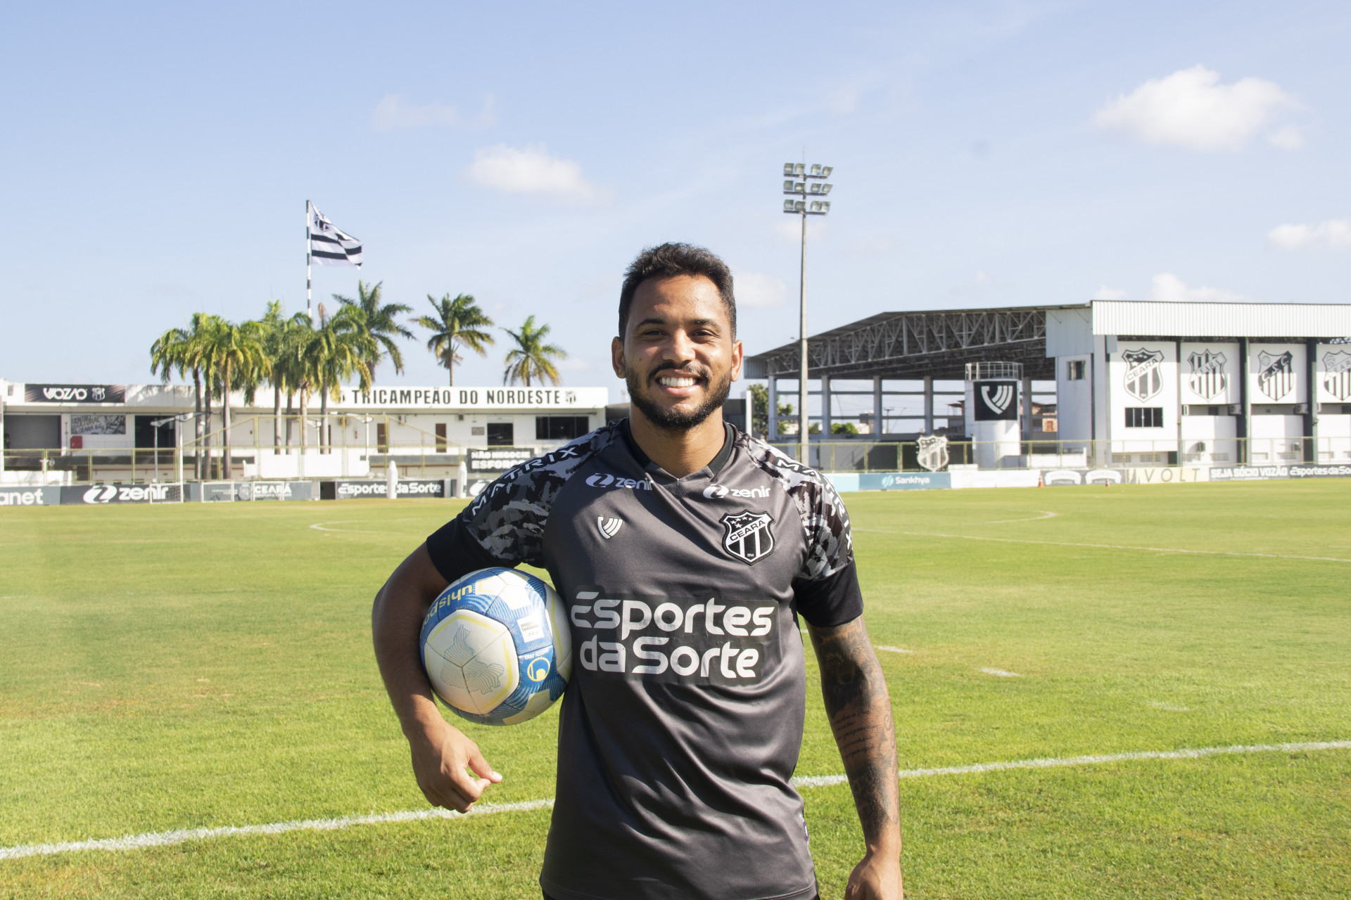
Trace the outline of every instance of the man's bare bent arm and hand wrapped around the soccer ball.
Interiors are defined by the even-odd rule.
[[[432,806],[467,812],[484,789],[503,776],[488,765],[477,743],[440,715],[422,667],[417,646],[422,621],[443,590],[446,579],[423,544],[380,588],[370,610],[370,631],[380,676],[408,738],[417,787]],[[466,773],[466,768],[478,777]]]

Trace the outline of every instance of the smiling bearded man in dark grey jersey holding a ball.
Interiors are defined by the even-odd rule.
[[[800,615],[863,826],[846,897],[900,899],[892,707],[848,517],[820,474],[723,421],[742,368],[723,260],[688,244],[643,251],[612,358],[631,417],[504,474],[376,598],[376,656],[419,787],[467,810],[501,780],[436,710],[417,663],[422,617],[467,572],[538,565],[569,607],[577,653],[544,896],[811,900],[790,784],[807,690]]]

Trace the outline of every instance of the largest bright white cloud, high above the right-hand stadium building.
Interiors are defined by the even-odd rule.
[[[1240,78],[1223,85],[1220,73],[1197,65],[1119,96],[1097,111],[1093,123],[1151,144],[1239,150],[1281,112],[1297,107],[1275,82]],[[1286,150],[1304,144],[1293,125],[1275,131],[1269,140]]]

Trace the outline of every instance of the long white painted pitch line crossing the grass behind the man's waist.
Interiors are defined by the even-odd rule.
[[[1106,762],[1132,762],[1139,760],[1200,760],[1210,756],[1236,753],[1301,753],[1309,750],[1351,750],[1351,741],[1310,741],[1304,743],[1248,743],[1227,748],[1198,748],[1183,750],[1136,750],[1131,753],[1109,753],[1104,756],[1071,756],[1044,760],[1015,760],[1011,762],[977,762],[975,765],[950,765],[938,769],[901,769],[902,779],[928,779],[943,775],[978,775],[982,772],[1006,772],[1011,769],[1054,769],[1074,765],[1102,765]],[[793,787],[825,788],[844,784],[843,775],[821,775],[793,779]],[[143,850],[146,847],[166,847],[188,841],[211,841],[215,838],[236,838],[258,834],[285,834],[288,831],[339,831],[358,824],[385,824],[394,822],[420,822],[423,819],[461,819],[470,815],[493,815],[497,812],[528,812],[546,810],[553,800],[527,800],[523,803],[480,804],[469,812],[453,810],[408,810],[404,812],[381,812],[373,815],[339,816],[335,819],[299,819],[293,822],[273,822],[269,824],[224,826],[219,828],[176,828],[173,831],[150,831],[130,834],[122,838],[95,841],[66,841],[62,843],[22,843],[14,847],[0,847],[0,860],[20,860],[58,853],[81,853],[89,850]]]

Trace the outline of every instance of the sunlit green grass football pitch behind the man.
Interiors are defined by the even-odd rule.
[[[880,653],[902,769],[1351,739],[1351,483],[846,499],[873,641],[909,650]],[[370,598],[457,509],[0,510],[0,847],[426,808]],[[808,695],[798,775],[839,773]],[[555,727],[465,726],[505,775],[493,803],[553,796]],[[804,796],[840,897],[848,788]],[[908,777],[901,804],[912,897],[1351,884],[1347,749]],[[532,897],[547,827],[535,810],[0,858],[0,896]]]

